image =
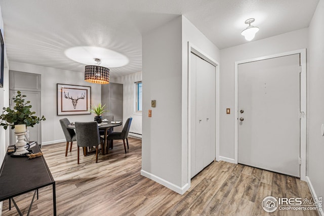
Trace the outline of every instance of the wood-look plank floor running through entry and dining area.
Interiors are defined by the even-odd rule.
[[[65,157],[65,143],[43,146],[42,151],[56,180],[57,215],[318,215],[316,210],[279,210],[267,213],[266,196],[311,199],[307,183],[241,164],[213,162],[179,195],[140,175],[141,140],[114,142],[107,155],[80,156],[76,145]],[[81,150],[80,150],[81,151]],[[15,198],[26,214],[32,192]],[[3,215],[17,215],[4,201]],[[53,215],[52,188],[39,189],[30,215]]]

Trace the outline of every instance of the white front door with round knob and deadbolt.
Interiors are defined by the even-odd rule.
[[[300,54],[237,73],[238,163],[300,177]]]

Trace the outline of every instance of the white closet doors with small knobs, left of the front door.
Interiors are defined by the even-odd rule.
[[[191,177],[215,159],[215,66],[191,54],[195,128],[191,136]],[[193,112],[192,112],[193,113]]]

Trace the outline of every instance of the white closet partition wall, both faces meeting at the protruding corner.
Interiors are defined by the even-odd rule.
[[[183,194],[188,182],[188,41],[219,60],[219,50],[185,17],[142,37],[141,174]],[[156,107],[151,108],[151,100]],[[148,110],[152,117],[147,117]],[[189,179],[190,181],[190,179]]]

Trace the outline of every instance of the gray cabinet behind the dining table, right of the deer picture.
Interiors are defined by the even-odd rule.
[[[113,115],[115,121],[123,121],[123,84],[110,82],[101,85],[101,104],[109,110],[104,115]],[[114,131],[121,131],[121,128],[115,127]]]

